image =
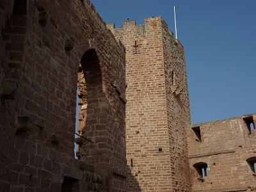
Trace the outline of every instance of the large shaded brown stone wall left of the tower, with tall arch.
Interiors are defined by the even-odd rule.
[[[0,191],[125,191],[124,47],[89,1],[3,0],[0,16]],[[81,132],[93,143],[76,160],[77,74],[90,57],[102,102],[87,109],[99,113]]]

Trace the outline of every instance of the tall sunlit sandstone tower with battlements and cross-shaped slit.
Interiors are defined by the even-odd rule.
[[[161,17],[115,29],[126,51],[129,191],[191,191],[190,125],[184,50]]]

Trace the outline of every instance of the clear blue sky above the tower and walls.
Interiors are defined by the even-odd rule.
[[[256,0],[92,0],[106,22],[161,15],[184,45],[191,122],[256,113]]]

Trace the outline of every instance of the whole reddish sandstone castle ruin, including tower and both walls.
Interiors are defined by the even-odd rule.
[[[1,0],[0,26],[1,192],[256,191],[256,115],[191,125],[161,17],[115,28],[88,0]]]

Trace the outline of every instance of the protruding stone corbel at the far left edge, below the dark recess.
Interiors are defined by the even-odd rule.
[[[1,97],[4,99],[13,99],[18,89],[17,81],[14,79],[3,79]]]

